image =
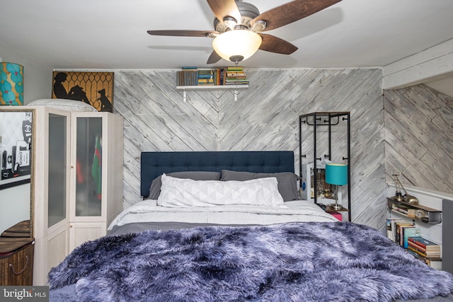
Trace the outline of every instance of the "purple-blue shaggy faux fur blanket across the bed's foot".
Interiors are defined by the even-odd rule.
[[[355,223],[144,231],[84,243],[49,274],[77,301],[393,301],[447,296],[453,276]]]

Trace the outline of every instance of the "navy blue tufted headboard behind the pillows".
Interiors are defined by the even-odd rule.
[[[248,171],[294,173],[293,151],[142,152],[141,194],[148,197],[154,178],[180,171]]]

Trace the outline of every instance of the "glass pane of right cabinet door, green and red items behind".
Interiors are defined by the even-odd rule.
[[[76,117],[76,216],[101,216],[102,117]]]

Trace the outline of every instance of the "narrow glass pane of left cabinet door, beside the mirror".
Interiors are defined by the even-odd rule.
[[[47,207],[50,228],[66,219],[67,194],[67,117],[49,114],[49,181]]]

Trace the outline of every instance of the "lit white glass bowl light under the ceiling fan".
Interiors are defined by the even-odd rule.
[[[251,30],[230,30],[218,35],[212,47],[222,59],[240,62],[253,56],[262,41],[261,36]]]

